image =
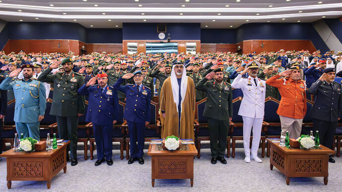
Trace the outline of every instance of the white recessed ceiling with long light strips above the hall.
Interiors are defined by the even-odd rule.
[[[318,3],[319,0],[1,0],[0,19],[12,22],[54,20],[79,23],[86,28],[91,25],[92,28],[120,28],[122,23],[129,22],[181,22],[201,23],[202,28],[231,29],[244,23],[298,20],[303,23],[323,16],[342,16],[341,0],[320,1],[322,3]]]

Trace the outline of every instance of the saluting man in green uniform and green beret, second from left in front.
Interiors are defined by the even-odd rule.
[[[64,68],[64,72],[49,75],[58,65]],[[38,77],[38,81],[54,83],[54,99],[51,106],[51,115],[56,115],[57,127],[60,139],[70,140],[71,166],[77,165],[77,126],[78,117],[84,113],[84,96],[80,96],[77,90],[84,84],[83,76],[72,71],[72,61],[65,58],[63,61],[55,61]]]

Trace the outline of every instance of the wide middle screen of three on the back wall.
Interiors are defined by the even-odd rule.
[[[161,52],[178,52],[178,43],[146,43],[147,53],[161,53]]]

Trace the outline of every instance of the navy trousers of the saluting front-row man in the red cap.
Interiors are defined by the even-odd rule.
[[[112,159],[113,155],[113,125],[93,124],[97,159]]]

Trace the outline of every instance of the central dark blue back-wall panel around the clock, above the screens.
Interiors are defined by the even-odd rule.
[[[122,23],[123,40],[160,40],[157,33],[158,23]],[[200,40],[200,23],[167,23],[166,38],[171,40]]]

